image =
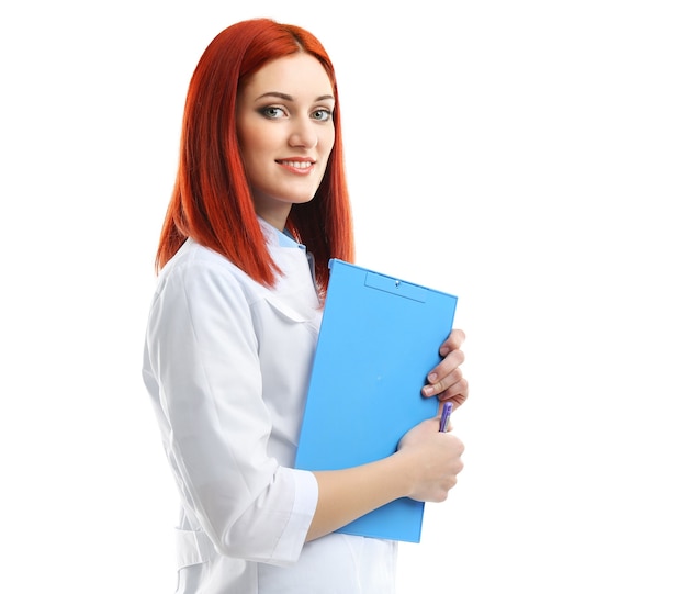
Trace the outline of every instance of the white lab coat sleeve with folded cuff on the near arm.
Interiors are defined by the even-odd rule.
[[[181,262],[179,262],[181,264]],[[216,262],[177,266],[150,310],[144,380],[182,494],[223,554],[289,564],[317,501],[312,473],[267,455],[251,304]]]

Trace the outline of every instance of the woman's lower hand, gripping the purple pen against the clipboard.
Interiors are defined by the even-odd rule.
[[[398,442],[399,457],[405,458],[410,492],[416,501],[442,502],[455,486],[463,470],[463,442],[450,433],[439,432],[438,417],[424,421],[406,433]]]

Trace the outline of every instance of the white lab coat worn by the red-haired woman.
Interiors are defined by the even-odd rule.
[[[143,376],[181,496],[178,593],[392,594],[395,542],[304,543],[293,469],[322,310],[303,246],[261,221],[273,289],[188,239],[160,272]]]

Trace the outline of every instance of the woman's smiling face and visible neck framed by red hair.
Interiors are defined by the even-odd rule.
[[[256,211],[283,229],[292,204],[308,202],[334,146],[334,91],[309,54],[266,64],[239,89],[237,132]]]

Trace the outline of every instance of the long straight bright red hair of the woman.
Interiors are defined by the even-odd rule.
[[[294,204],[286,226],[313,254],[322,291],[326,291],[329,280],[329,258],[352,261],[352,215],[331,60],[307,31],[270,19],[254,19],[222,31],[201,56],[191,78],[177,180],[156,257],[158,271],[192,237],[228,258],[257,282],[275,282],[280,270],[269,255],[240,157],[236,101],[247,77],[270,60],[299,52],[317,58],[331,81],[335,142],[314,199]]]

